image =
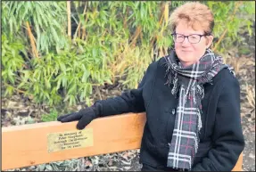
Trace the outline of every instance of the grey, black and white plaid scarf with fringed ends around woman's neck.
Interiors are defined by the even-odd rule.
[[[200,61],[185,68],[181,67],[174,51],[165,59],[166,84],[173,84],[171,93],[178,94],[177,114],[172,140],[169,143],[167,166],[191,170],[202,127],[201,101],[204,95],[202,85],[211,83],[212,78],[224,68],[228,68],[233,74],[234,71],[211,49],[206,50]]]

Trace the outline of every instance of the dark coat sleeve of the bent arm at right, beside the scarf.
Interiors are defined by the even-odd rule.
[[[228,79],[219,95],[212,141],[214,147],[192,171],[231,171],[244,150],[240,86],[234,77]]]

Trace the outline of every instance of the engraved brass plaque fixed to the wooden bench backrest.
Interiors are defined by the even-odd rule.
[[[93,128],[47,135],[48,152],[60,152],[94,145]]]

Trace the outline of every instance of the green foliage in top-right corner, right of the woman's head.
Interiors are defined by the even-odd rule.
[[[241,37],[238,36],[238,32],[241,32],[244,26],[252,35],[252,24],[253,20],[255,21],[255,2],[209,1],[206,4],[214,14],[214,37],[221,37],[227,29],[227,34],[221,40],[221,44],[216,47],[219,53],[225,53],[235,43],[241,44]],[[244,16],[248,20],[244,20]]]

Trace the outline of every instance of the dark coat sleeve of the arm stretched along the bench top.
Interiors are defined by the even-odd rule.
[[[127,113],[127,112],[142,112],[145,111],[145,102],[143,99],[143,89],[147,84],[148,78],[151,77],[153,63],[149,65],[145,71],[145,75],[142,78],[136,89],[130,89],[123,92],[119,96],[107,98],[105,100],[99,100],[95,102],[97,111],[100,117]]]

